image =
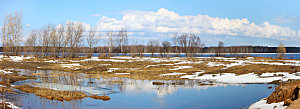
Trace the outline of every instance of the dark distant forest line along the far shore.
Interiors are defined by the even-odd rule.
[[[31,52],[30,49],[32,47],[28,46],[19,46],[18,51],[21,52]],[[35,52],[42,52],[42,46],[35,47]],[[58,48],[47,47],[48,52],[51,53],[53,50],[57,50]],[[150,46],[147,45],[136,45],[136,46],[126,46],[125,53],[152,53],[153,51],[150,49]],[[278,47],[268,47],[268,46],[226,46],[226,47],[199,47],[195,48],[194,53],[278,53]],[[300,47],[285,47],[286,53],[300,53]],[[65,51],[68,53],[70,47],[61,47],[61,51]],[[89,47],[76,47],[76,53],[88,53]],[[168,52],[164,52],[164,49],[168,49]],[[177,49],[177,50],[176,50]],[[184,47],[180,46],[170,46],[168,48],[164,48],[163,46],[155,47],[155,51],[153,53],[184,53]],[[3,47],[0,47],[0,52],[3,52]],[[93,53],[108,53],[109,47],[95,47],[93,48]],[[121,53],[121,49],[116,47],[112,50],[112,53]]]

